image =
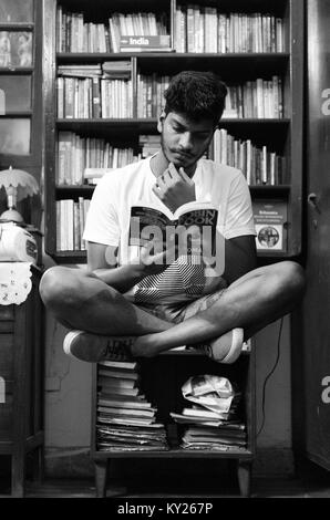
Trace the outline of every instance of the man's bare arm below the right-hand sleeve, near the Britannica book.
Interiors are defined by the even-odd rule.
[[[254,235],[225,240],[224,279],[228,285],[257,267],[256,238]]]

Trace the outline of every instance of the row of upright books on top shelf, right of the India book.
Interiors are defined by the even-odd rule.
[[[282,52],[282,19],[260,12],[221,13],[215,7],[178,6],[175,50],[193,53]]]

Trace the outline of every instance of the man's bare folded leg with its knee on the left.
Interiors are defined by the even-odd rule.
[[[138,309],[115,289],[80,269],[49,269],[41,279],[40,294],[56,320],[69,329],[140,336],[174,326]]]

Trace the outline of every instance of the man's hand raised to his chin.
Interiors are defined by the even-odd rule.
[[[173,163],[157,177],[153,191],[173,214],[184,204],[196,200],[195,183],[184,168],[177,170]]]

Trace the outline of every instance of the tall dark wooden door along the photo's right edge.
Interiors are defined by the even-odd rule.
[[[293,331],[293,428],[299,450],[330,469],[329,1],[309,0],[307,20],[307,293]]]

